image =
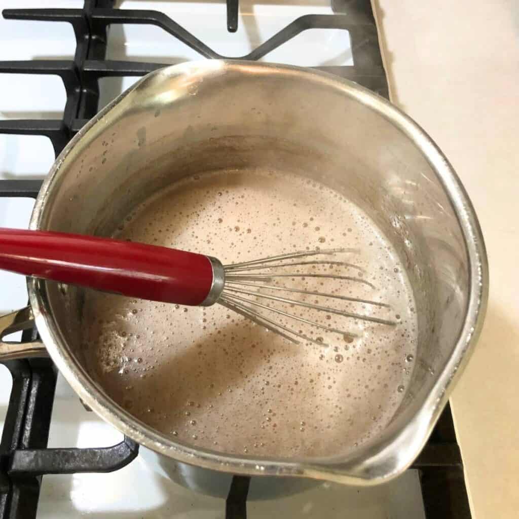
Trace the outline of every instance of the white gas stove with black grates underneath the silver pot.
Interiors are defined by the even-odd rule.
[[[65,144],[139,76],[164,65],[242,58],[316,67],[388,97],[368,0],[41,5],[6,0],[0,19],[0,226],[27,227]],[[26,301],[24,278],[0,271],[0,315]],[[29,330],[23,338],[35,336]],[[234,476],[227,499],[173,483],[138,456],[131,439],[89,412],[49,359],[0,364],[0,406],[2,518],[470,518],[448,406],[397,479],[373,488],[316,482],[264,500],[249,477]]]

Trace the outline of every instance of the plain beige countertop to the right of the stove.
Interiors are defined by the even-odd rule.
[[[472,516],[519,517],[519,2],[374,8],[392,100],[452,162],[488,250],[486,321],[451,399]]]

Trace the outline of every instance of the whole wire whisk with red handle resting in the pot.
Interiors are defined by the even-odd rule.
[[[342,334],[345,338],[354,338],[356,334],[319,322],[317,318],[313,320],[295,311],[286,311],[287,306],[307,308],[316,315],[324,313],[327,320],[333,314],[380,325],[395,324],[371,313],[330,306],[330,302],[343,301],[389,309],[387,303],[284,283],[297,278],[301,281],[321,278],[375,289],[361,277],[360,266],[337,259],[358,252],[349,248],[308,250],[223,265],[211,256],[157,245],[54,231],[0,228],[0,269],[151,301],[190,306],[217,303],[297,344],[298,339],[318,344],[323,340],[310,337],[288,323]],[[305,271],[309,268],[312,271]],[[313,271],[316,268],[326,271]],[[341,272],[349,269],[359,275],[336,274],[336,269]],[[313,297],[314,302],[308,302],[308,297]],[[328,303],[318,304],[315,297]]]

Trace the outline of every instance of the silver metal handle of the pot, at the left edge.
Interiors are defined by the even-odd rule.
[[[32,308],[26,306],[21,310],[0,316],[0,361],[24,359],[28,357],[48,357],[47,350],[41,340],[15,343],[4,341],[10,333],[34,327]]]

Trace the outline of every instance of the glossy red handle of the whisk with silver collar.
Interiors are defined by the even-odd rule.
[[[213,304],[224,283],[222,264],[203,254],[112,238],[1,227],[0,269],[193,306]]]

